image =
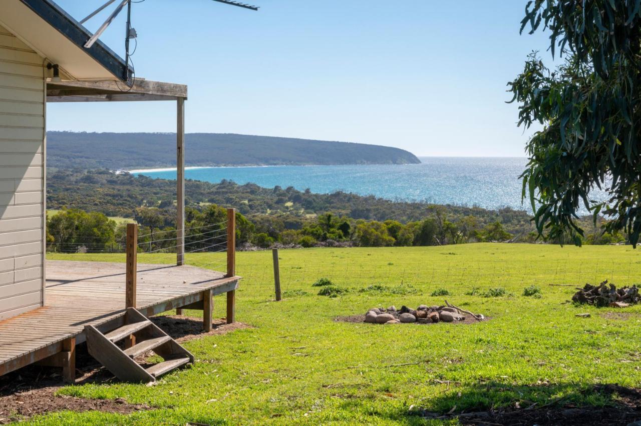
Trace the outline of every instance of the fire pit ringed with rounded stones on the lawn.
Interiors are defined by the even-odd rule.
[[[461,322],[468,318],[482,321],[483,315],[475,314],[445,301],[443,306],[427,306],[421,304],[416,309],[402,306],[397,310],[395,306],[389,308],[372,308],[365,314],[365,322],[370,324],[431,324],[433,322]]]

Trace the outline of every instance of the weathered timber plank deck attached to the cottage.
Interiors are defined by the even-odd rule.
[[[136,307],[147,317],[183,306],[200,309],[206,294],[222,293],[233,316],[238,276],[186,265],[138,264],[137,271]],[[87,324],[104,330],[123,324],[124,263],[48,261],[46,274],[45,306],[0,321],[0,375],[62,352],[70,338],[84,342]]]

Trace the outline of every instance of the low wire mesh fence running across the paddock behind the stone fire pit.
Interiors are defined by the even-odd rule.
[[[350,249],[344,249],[349,251]],[[290,252],[296,253],[297,250]],[[264,253],[264,254],[263,254]],[[271,252],[240,253],[237,272],[243,276],[242,288],[271,293],[274,290]],[[463,295],[474,288],[504,287],[510,291],[536,285],[559,286],[570,290],[586,283],[597,284],[608,280],[616,285],[641,282],[640,260],[607,258],[569,258],[556,260],[460,260],[408,262],[394,258],[388,262],[371,260],[367,256],[327,261],[328,253],[315,251],[310,256],[290,256],[281,251],[280,283],[283,292],[305,290],[318,292],[312,287],[320,278],[328,278],[333,285],[361,289],[382,286],[383,292],[431,292],[447,288]],[[400,256],[399,256],[400,257]],[[199,265],[197,259],[194,264]],[[428,292],[428,293],[429,293]]]

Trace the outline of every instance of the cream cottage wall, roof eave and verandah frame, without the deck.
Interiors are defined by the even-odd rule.
[[[176,100],[183,171],[187,86],[133,82],[131,68],[103,43],[84,47],[90,36],[50,0],[0,2],[0,320],[46,303],[47,102]]]

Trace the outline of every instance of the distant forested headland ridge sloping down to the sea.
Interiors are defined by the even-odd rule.
[[[363,143],[190,133],[185,144],[187,166],[420,163],[411,152]],[[47,132],[49,167],[127,170],[175,165],[175,134]]]

